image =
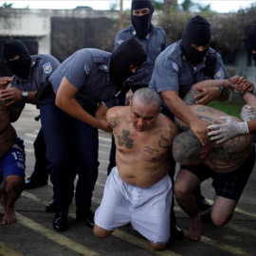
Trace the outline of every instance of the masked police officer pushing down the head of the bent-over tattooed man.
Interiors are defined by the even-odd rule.
[[[218,53],[212,56],[214,50],[210,48],[210,38],[209,22],[199,15],[192,17],[183,31],[182,39],[168,46],[156,58],[149,85],[161,97],[162,112],[171,119],[175,116],[188,123],[202,144],[209,142],[207,124],[194,116],[182,99],[196,82],[211,80],[214,85],[214,80],[229,78],[221,56]],[[215,58],[207,63],[209,56]],[[215,99],[226,100],[229,98],[229,90],[219,86],[211,89],[211,96],[207,91],[202,91],[197,98],[197,102],[201,104]],[[200,210],[211,207],[199,188],[195,196]]]

